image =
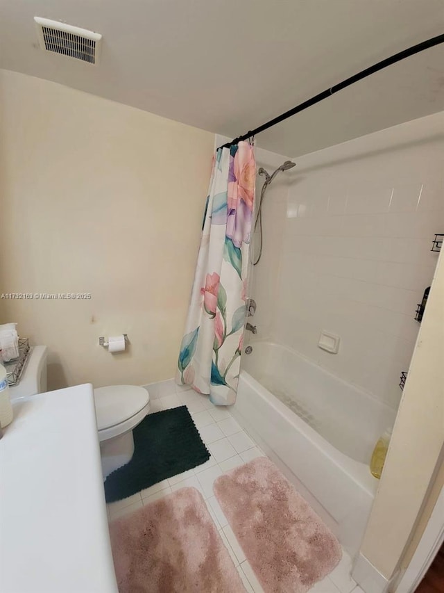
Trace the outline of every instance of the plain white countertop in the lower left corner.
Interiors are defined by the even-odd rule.
[[[1,593],[117,593],[92,385],[14,414],[0,440]]]

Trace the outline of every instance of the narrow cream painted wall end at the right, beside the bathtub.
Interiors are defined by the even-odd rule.
[[[440,479],[444,447],[444,259],[438,261],[361,553],[387,579]],[[426,505],[427,507],[427,505]]]

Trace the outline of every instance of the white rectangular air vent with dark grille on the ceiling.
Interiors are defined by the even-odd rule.
[[[99,62],[102,38],[99,33],[40,17],[34,17],[34,20],[40,47],[44,51],[53,51],[88,64]]]

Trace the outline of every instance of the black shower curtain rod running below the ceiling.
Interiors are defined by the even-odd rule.
[[[339,90],[342,90],[343,88],[350,86],[351,84],[354,84],[357,81],[365,79],[366,76],[370,76],[370,74],[374,74],[379,70],[383,70],[383,68],[386,68],[387,66],[395,64],[396,62],[400,62],[400,60],[404,60],[404,58],[409,58],[409,56],[419,54],[420,51],[424,51],[425,49],[429,49],[429,47],[434,47],[435,45],[438,45],[440,43],[444,43],[444,35],[437,35],[436,37],[432,37],[431,39],[427,39],[426,41],[422,41],[421,43],[413,45],[413,47],[409,47],[409,49],[404,49],[403,51],[400,51],[398,54],[395,54],[390,58],[386,58],[385,60],[382,60],[381,62],[378,62],[377,64],[374,64],[373,66],[370,66],[365,70],[358,72],[358,74],[354,74],[354,76],[350,76],[350,78],[345,79],[345,81],[342,81],[332,86],[332,88],[327,88],[327,90],[324,90],[323,92],[320,92],[318,95],[311,97],[311,99],[308,99],[300,105],[293,107],[289,111],[286,111],[281,115],[278,115],[278,117],[274,117],[273,120],[266,122],[266,124],[262,124],[262,126],[259,126],[254,130],[248,131],[246,134],[244,134],[244,136],[234,138],[234,140],[227,144],[223,144],[219,148],[230,148],[230,146],[241,142],[241,140],[248,140],[248,138],[256,136],[256,134],[263,132],[268,128],[271,128],[276,124],[280,124],[280,122],[287,120],[292,115],[296,115],[296,113],[304,111],[308,107],[311,107],[311,105],[319,103],[319,101],[323,101],[323,99],[327,99],[327,97],[331,97],[332,95],[334,95],[335,92],[338,92]]]

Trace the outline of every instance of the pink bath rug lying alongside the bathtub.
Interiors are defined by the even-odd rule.
[[[266,593],[305,593],[341,560],[336,537],[267,457],[225,473],[213,489]]]

